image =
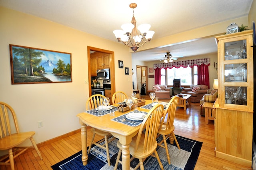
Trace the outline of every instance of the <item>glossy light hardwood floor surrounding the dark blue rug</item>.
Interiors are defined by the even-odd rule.
[[[147,96],[142,97],[149,99]],[[192,103],[186,110],[177,108],[174,125],[176,135],[203,142],[195,170],[251,169],[214,157],[214,121],[205,124],[204,116],[199,114],[199,103]],[[91,136],[88,130],[88,141]],[[96,136],[95,140],[100,140],[100,137]],[[52,165],[82,150],[80,131],[38,144],[38,147],[43,160],[40,160],[35,150],[30,150],[14,159],[15,170],[52,170]],[[0,170],[10,170],[10,166],[0,166]]]

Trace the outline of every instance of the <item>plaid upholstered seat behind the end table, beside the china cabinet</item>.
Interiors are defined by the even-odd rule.
[[[200,100],[200,115],[205,116],[205,108],[203,107],[204,102],[214,103],[216,98],[218,98],[218,90],[207,90],[207,94],[204,94],[203,98]]]

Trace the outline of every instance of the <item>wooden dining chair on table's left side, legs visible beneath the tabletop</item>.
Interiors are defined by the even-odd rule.
[[[97,108],[100,105],[103,105],[103,98],[106,98],[105,96],[103,96],[102,94],[94,94],[92,96],[90,96],[86,102],[86,110],[92,110]],[[107,160],[108,160],[108,166],[110,166],[110,156],[109,156],[109,151],[108,151],[108,143],[112,142],[115,138],[111,138],[109,140],[110,137],[112,137],[112,135],[108,132],[104,132],[102,130],[98,130],[96,128],[92,128],[92,141],[90,143],[90,146],[88,148],[88,154],[90,153],[90,150],[92,148],[92,144],[106,150],[107,153]],[[98,142],[94,142],[94,137],[95,135],[98,134],[100,136],[104,136],[104,138]],[[105,140],[105,144],[104,145],[100,145],[100,143],[102,143]]]

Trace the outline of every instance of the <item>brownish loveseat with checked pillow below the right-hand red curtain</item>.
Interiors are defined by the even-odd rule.
[[[190,88],[183,88],[181,93],[183,94],[191,94],[190,101],[193,103],[199,102],[204,94],[207,94],[208,86],[206,85],[190,85]]]

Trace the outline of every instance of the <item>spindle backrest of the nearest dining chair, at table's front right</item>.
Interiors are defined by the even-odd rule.
[[[138,147],[143,147],[143,151],[144,153],[146,153],[148,152],[148,150],[152,150],[154,145],[157,144],[156,136],[163,110],[164,106],[162,104],[157,104],[152,109],[150,109],[140,126],[140,130],[136,139],[136,144],[134,146],[135,152]],[[143,146],[141,146],[140,143],[142,136],[144,136]]]

